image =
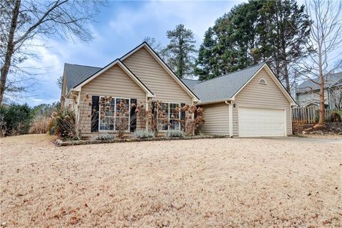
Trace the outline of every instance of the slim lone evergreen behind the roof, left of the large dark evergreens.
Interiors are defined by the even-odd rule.
[[[194,34],[183,24],[177,25],[174,30],[169,30],[166,34],[170,39],[166,47],[170,54],[167,63],[179,78],[192,76],[195,59],[193,54],[196,52]]]

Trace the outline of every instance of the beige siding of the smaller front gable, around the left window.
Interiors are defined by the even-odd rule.
[[[105,71],[100,76],[94,78],[92,81],[88,82],[81,88],[81,102],[85,95],[89,95],[89,100],[91,101],[92,95],[98,96],[112,96],[113,98],[135,98],[137,103],[146,102],[146,93],[142,88],[140,88],[135,81],[133,81],[130,76],[128,76],[125,71],[118,65],[114,65]],[[86,124],[85,132],[90,133],[90,120],[88,114],[91,110],[87,105],[81,106],[81,120]],[[83,108],[82,108],[83,107]],[[145,126],[138,126],[142,128]]]

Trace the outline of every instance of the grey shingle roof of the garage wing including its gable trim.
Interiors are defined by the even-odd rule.
[[[278,78],[274,76],[269,66],[266,63],[259,63],[255,66],[250,66],[239,71],[228,73],[224,76],[209,79],[207,81],[195,81],[182,79],[192,91],[201,99],[200,103],[215,103],[222,100],[234,100],[235,95],[241,91],[254,76],[264,68],[269,76],[274,80],[281,92],[286,96],[292,105],[296,105],[294,99],[289,95]]]

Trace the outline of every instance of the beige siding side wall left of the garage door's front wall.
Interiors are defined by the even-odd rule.
[[[224,102],[203,105],[204,125],[199,130],[208,135],[229,135],[229,105]]]

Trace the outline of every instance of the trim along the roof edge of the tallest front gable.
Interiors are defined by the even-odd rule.
[[[180,85],[180,87],[183,90],[185,90],[185,92],[187,92],[188,95],[190,95],[192,97],[192,100],[199,101],[199,98],[197,97],[197,95],[192,90],[190,90],[190,88],[188,88],[187,85],[185,83],[183,83],[182,80],[180,80],[180,78],[178,78],[176,76],[176,74],[171,70],[171,68],[169,66],[167,66],[167,64],[162,60],[162,58],[160,58],[160,56],[158,56],[158,54],[150,47],[150,45],[148,45],[148,43],[146,41],[142,42],[139,46],[133,48],[131,51],[126,53],[123,57],[120,58],[120,61],[124,61],[125,58],[128,58],[133,53],[135,53],[136,51],[138,51],[140,48],[143,48],[143,47],[146,48],[148,53],[150,53],[150,55],[153,58],[155,58],[157,63],[159,63],[160,66],[162,66],[162,68],[164,68],[164,70],[176,81],[176,83],[178,85]]]

